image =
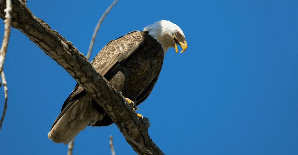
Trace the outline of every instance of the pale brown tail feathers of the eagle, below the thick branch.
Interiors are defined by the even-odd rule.
[[[100,114],[92,107],[91,96],[85,95],[82,98],[72,101],[70,107],[64,112],[63,116],[57,117],[57,123],[52,127],[48,138],[55,143],[64,143],[66,145],[89,124],[101,120],[105,113]],[[55,122],[56,122],[55,121]]]

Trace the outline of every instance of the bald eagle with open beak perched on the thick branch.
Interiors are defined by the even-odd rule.
[[[187,49],[182,30],[174,23],[160,20],[125,36],[111,40],[91,61],[127,100],[142,103],[152,91],[162,69],[164,55],[177,45]],[[48,138],[55,143],[69,143],[81,130],[107,126],[113,121],[104,109],[79,85],[63,103]]]

